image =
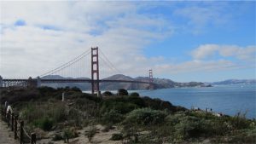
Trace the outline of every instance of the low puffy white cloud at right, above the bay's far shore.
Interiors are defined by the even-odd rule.
[[[203,44],[191,51],[192,60],[179,63],[161,60],[154,65],[155,73],[170,75],[189,72],[221,72],[244,68],[255,68],[256,46]],[[216,58],[216,56],[218,57]],[[227,58],[235,58],[230,60]]]

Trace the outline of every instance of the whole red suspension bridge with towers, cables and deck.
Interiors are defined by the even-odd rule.
[[[101,55],[100,55],[101,54]],[[88,57],[90,55],[90,58]],[[86,61],[90,60],[90,66],[86,66]],[[99,61],[101,60],[102,66],[107,70],[100,71]],[[90,67],[91,78],[84,78],[86,72]],[[100,83],[136,83],[136,84],[148,84],[149,89],[153,89],[153,72],[149,70],[148,81],[136,81],[136,80],[119,80],[119,79],[100,79],[100,72],[104,75],[108,75],[108,72],[119,72],[117,68],[108,60],[108,57],[102,53],[98,47],[91,48],[77,56],[73,60],[58,66],[57,68],[45,72],[38,76],[38,78],[2,78],[0,76],[0,87],[10,86],[22,86],[22,87],[40,87],[41,84],[51,83],[90,83],[91,93],[95,94],[100,91]],[[50,76],[59,75],[61,78],[51,78]],[[73,78],[72,78],[73,77]]]

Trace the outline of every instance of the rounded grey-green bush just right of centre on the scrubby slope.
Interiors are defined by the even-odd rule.
[[[160,124],[164,122],[166,115],[166,112],[150,108],[136,109],[128,114],[125,118],[125,123],[142,125]]]

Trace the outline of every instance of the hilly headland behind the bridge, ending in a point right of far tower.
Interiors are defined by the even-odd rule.
[[[58,78],[63,78],[59,75],[49,75],[43,77],[43,79],[58,79]],[[79,78],[81,79],[81,78]],[[82,78],[82,79],[90,79],[90,78]],[[147,77],[137,77],[137,78],[131,78],[129,76],[125,76],[122,74],[116,74],[108,78],[104,79],[113,79],[113,80],[134,80],[134,81],[144,81],[148,82]],[[168,89],[168,88],[180,88],[180,87],[206,87],[208,86],[207,84],[201,83],[201,82],[189,82],[189,83],[178,83],[174,82],[171,79],[167,78],[154,78],[154,89]],[[43,84],[45,86],[50,86],[53,88],[58,88],[58,87],[78,87],[79,89],[82,90],[90,90],[91,85],[89,83],[73,83],[73,84]],[[100,88],[103,90],[116,90],[116,89],[132,89],[132,90],[137,90],[137,89],[148,89],[148,84],[133,84],[133,83],[102,83],[100,84]]]

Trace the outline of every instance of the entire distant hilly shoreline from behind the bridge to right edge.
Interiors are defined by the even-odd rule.
[[[49,75],[45,76],[44,78],[63,78],[59,75]],[[90,78],[77,78],[77,79],[90,79]],[[147,77],[137,77],[137,78],[131,78],[122,74],[116,74],[113,76],[110,76],[108,78],[104,79],[119,79],[119,80],[138,80],[138,81],[145,81],[148,82]],[[256,79],[228,79],[220,82],[186,82],[186,83],[180,83],[175,82],[172,79],[168,78],[154,78],[154,89],[170,89],[170,88],[191,88],[191,87],[212,87],[214,85],[219,84],[256,84]],[[44,84],[44,86],[49,86],[53,88],[58,87],[78,87],[79,89],[82,89],[83,91],[89,91],[90,90],[90,84]],[[116,89],[128,89],[128,90],[145,90],[148,89],[148,84],[113,84],[113,83],[104,83],[100,84],[100,88],[102,90],[116,90]]]

